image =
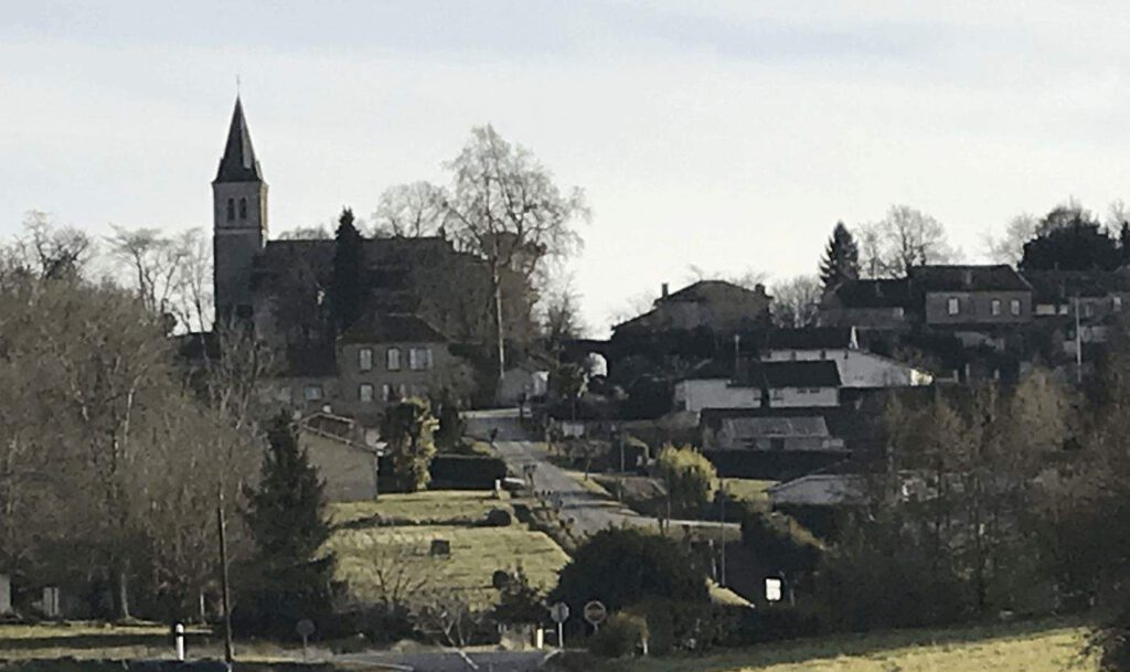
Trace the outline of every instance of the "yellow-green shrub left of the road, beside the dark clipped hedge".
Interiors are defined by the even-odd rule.
[[[406,399],[384,412],[381,435],[389,444],[392,472],[401,490],[424,490],[432,480],[428,469],[435,457],[437,426],[431,405],[423,399]]]

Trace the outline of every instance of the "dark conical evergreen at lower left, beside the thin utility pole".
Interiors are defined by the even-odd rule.
[[[267,438],[259,487],[245,492],[244,517],[258,551],[247,593],[258,622],[289,632],[297,619],[329,612],[333,557],[318,553],[330,527],[322,482],[286,414],[273,420]]]

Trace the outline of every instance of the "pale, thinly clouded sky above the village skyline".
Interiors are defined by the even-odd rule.
[[[0,236],[211,226],[240,80],[273,233],[445,182],[473,125],[592,217],[594,334],[694,265],[814,273],[896,203],[965,258],[1020,212],[1130,201],[1130,5],[0,0]]]

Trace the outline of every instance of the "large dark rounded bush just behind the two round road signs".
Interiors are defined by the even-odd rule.
[[[671,539],[638,530],[603,530],[577,548],[550,601],[564,601],[580,613],[590,600],[617,611],[649,597],[705,602],[705,576]]]

